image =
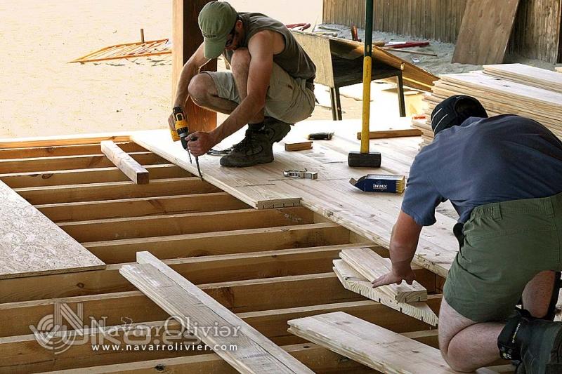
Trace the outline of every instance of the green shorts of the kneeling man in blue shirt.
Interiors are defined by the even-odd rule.
[[[562,269],[561,242],[562,194],[478,206],[443,297],[472,321],[503,321],[533,276]]]

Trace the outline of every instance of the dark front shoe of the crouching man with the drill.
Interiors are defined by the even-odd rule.
[[[233,150],[221,157],[221,165],[230,168],[245,168],[258,163],[273,161],[273,142],[265,131],[248,129],[241,142],[233,145]]]

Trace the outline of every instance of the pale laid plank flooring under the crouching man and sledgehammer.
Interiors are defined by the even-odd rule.
[[[203,178],[224,189],[250,206],[282,206],[299,201],[302,206],[351,229],[367,239],[388,248],[391,229],[396,222],[403,196],[398,194],[365,193],[353,187],[349,178],[360,178],[367,173],[408,175],[418,152],[419,138],[370,140],[370,149],[381,152],[381,168],[349,168],[348,152],[359,149],[356,139],[360,120],[304,121],[291,131],[292,138],[299,134],[335,131],[332,140],[318,140],[313,149],[285,152],[275,144],[275,161],[251,168],[223,168],[216,156],[202,156]],[[242,132],[243,133],[243,132]],[[236,134],[238,135],[238,134]],[[181,145],[172,144],[166,131],[133,135],[133,139],[152,152],[195,173]],[[227,147],[228,139],[219,146]],[[318,172],[318,180],[292,180],[282,176],[284,169],[303,169]],[[414,262],[436,274],[447,276],[457,254],[458,242],[452,235],[455,220],[436,213],[437,223],[421,231]]]

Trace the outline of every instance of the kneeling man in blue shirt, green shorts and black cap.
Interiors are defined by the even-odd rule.
[[[393,227],[392,271],[373,286],[412,283],[421,228],[450,200],[460,250],[439,315],[443,357],[459,371],[499,355],[522,361],[518,373],[562,373],[562,323],[549,321],[562,269],[562,142],[531,119],[488,118],[464,95],[437,105],[431,127]]]

